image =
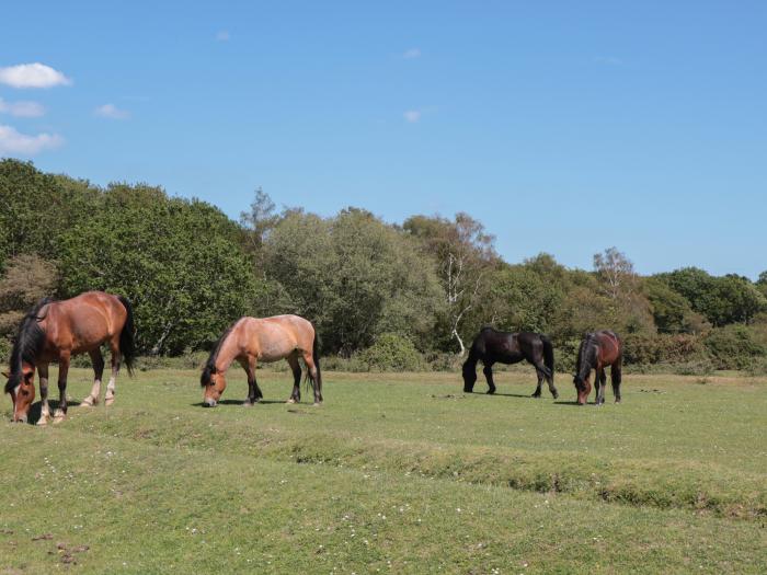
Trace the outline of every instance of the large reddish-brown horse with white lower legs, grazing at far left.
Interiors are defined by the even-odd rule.
[[[46,425],[50,417],[48,409],[48,365],[58,361],[59,404],[54,413],[54,423],[67,415],[67,372],[70,358],[89,354],[93,363],[93,387],[81,405],[92,406],[99,402],[104,358],[101,345],[107,344],[112,352],[112,376],[106,386],[104,403],[111,405],[115,396],[115,378],[121,359],[128,373],[133,373],[136,356],[134,340],[134,313],[130,302],[122,296],[103,291],[87,291],[71,299],[38,301],[19,325],[11,352],[10,372],[5,393],[13,401],[13,421],[26,422],[30,406],[35,400],[35,369],[39,373],[41,416],[37,425]]]

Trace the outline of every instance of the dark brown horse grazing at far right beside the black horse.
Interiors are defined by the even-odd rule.
[[[615,402],[620,403],[620,371],[623,360],[623,346],[620,337],[609,330],[586,333],[581,341],[577,350],[577,364],[575,365],[575,377],[573,383],[577,390],[577,403],[585,405],[588,394],[592,392],[589,381],[592,369],[596,370],[594,384],[596,386],[595,405],[605,403],[605,388],[607,387],[607,376],[605,368],[610,368],[610,381],[613,383],[613,394]],[[602,387],[599,387],[602,383]]]

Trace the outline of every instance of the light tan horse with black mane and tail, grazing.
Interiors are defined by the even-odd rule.
[[[274,315],[272,318],[244,317],[224,332],[210,352],[199,384],[204,388],[203,406],[215,407],[227,388],[226,373],[232,361],[239,361],[248,376],[248,398],[243,405],[253,405],[263,399],[255,380],[259,361],[287,360],[293,370],[293,393],[287,403],[301,400],[302,358],[307,377],[314,391],[314,405],[322,403],[322,376],[320,373],[319,346],[314,326],[298,315]]]

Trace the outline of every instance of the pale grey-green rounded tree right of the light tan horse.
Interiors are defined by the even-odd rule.
[[[387,332],[423,342],[434,329],[442,291],[433,262],[367,211],[329,220],[289,211],[265,251],[268,275],[317,323],[324,350],[350,355]]]

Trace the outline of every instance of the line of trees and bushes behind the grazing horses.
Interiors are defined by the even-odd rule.
[[[232,221],[156,186],[102,188],[15,160],[0,161],[0,274],[3,355],[39,297],[103,289],[133,300],[145,355],[208,349],[243,314],[298,313],[325,356],[360,369],[453,365],[488,324],[548,333],[562,368],[584,331],[605,326],[629,364],[767,365],[767,272],[642,277],[615,248],[591,271],[549,254],[510,264],[466,214],[322,218],[257,191]]]

